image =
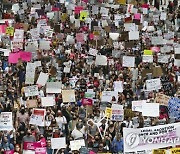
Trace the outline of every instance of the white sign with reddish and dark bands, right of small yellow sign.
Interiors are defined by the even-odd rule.
[[[112,104],[112,121],[123,121],[124,120],[124,109],[123,105]]]

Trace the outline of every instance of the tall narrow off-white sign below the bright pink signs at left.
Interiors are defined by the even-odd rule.
[[[35,63],[27,63],[25,84],[34,84],[35,69]]]

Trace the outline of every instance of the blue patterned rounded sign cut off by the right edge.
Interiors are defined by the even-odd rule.
[[[180,120],[180,99],[172,97],[168,102],[169,117]]]

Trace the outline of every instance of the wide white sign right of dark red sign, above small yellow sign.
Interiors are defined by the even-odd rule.
[[[103,91],[101,101],[102,102],[111,102],[113,96],[116,98],[116,102],[117,102],[117,100],[118,100],[118,92],[117,91]]]

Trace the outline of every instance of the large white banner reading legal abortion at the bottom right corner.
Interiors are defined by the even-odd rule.
[[[153,150],[180,144],[180,123],[123,129],[124,152]]]

